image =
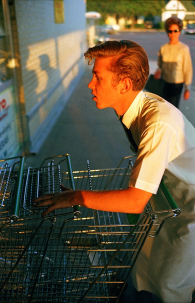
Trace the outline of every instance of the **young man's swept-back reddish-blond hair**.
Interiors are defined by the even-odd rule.
[[[100,45],[89,47],[84,53],[88,65],[96,58],[111,57],[108,70],[114,73],[114,82],[129,77],[133,90],[143,89],[149,74],[148,58],[145,50],[137,43],[129,40],[110,40]]]

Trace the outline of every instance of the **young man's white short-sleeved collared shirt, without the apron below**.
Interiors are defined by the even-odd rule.
[[[140,91],[122,122],[138,146],[129,186],[156,193],[165,169],[195,185],[195,128],[175,106]]]

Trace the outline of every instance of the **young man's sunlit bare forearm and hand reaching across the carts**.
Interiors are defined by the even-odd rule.
[[[134,187],[103,191],[65,190],[36,198],[34,206],[48,206],[42,215],[76,204],[104,211],[141,213],[151,195]]]

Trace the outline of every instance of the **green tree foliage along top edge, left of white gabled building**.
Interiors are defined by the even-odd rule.
[[[161,15],[165,3],[165,0],[86,0],[86,10],[98,11],[102,23],[107,16],[114,16],[116,23],[119,18],[131,18],[135,22],[138,16],[151,19]]]

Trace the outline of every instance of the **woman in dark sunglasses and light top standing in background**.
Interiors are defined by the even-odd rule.
[[[192,63],[189,47],[179,41],[183,22],[176,16],[164,23],[169,42],[158,51],[158,69],[154,78],[164,81],[163,98],[178,108],[184,84],[184,100],[190,96],[189,85],[192,81]]]

